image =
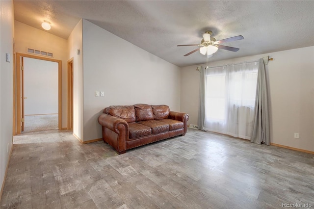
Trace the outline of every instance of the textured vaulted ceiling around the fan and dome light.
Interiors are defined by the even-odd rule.
[[[39,29],[51,22],[50,33],[67,39],[80,19],[177,66],[206,62],[197,47],[202,32],[238,52],[219,49],[210,61],[314,46],[314,1],[196,1],[196,0],[14,0],[15,20]]]

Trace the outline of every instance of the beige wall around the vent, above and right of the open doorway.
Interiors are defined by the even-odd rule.
[[[26,53],[28,47],[53,52],[54,59],[62,60],[62,128],[67,128],[67,40],[18,21],[15,21],[14,27],[16,52]]]

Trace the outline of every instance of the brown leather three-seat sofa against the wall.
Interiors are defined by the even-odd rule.
[[[188,114],[170,111],[167,105],[109,106],[98,117],[103,140],[118,154],[145,144],[185,135]]]

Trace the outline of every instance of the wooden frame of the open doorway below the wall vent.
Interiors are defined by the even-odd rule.
[[[48,57],[41,57],[25,53],[16,53],[16,71],[15,76],[16,80],[13,80],[13,93],[15,104],[13,104],[13,115],[16,115],[16,118],[13,118],[13,133],[14,135],[21,133],[21,119],[22,119],[22,84],[21,84],[21,57],[40,59],[45,61],[51,61],[58,63],[58,129],[62,129],[62,61],[57,59],[52,59]],[[24,98],[23,98],[24,99]]]

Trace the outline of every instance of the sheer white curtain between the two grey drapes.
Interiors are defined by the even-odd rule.
[[[259,62],[208,68],[204,130],[251,139]]]

